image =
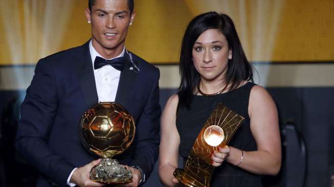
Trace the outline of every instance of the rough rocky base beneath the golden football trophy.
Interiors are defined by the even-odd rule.
[[[117,160],[102,158],[101,162],[91,170],[90,178],[103,184],[124,184],[132,181],[132,174]]]

